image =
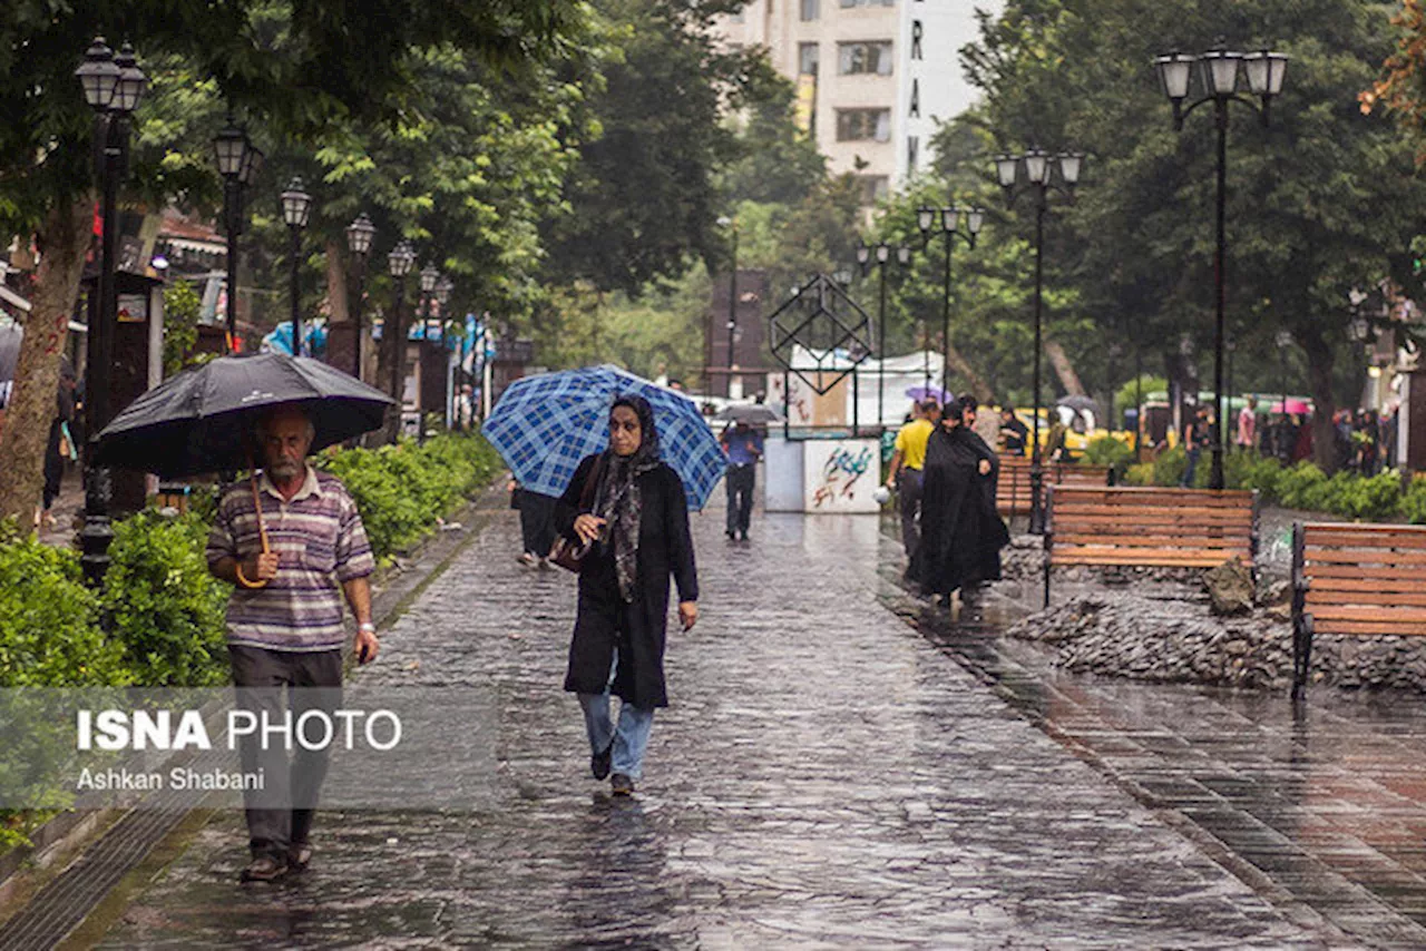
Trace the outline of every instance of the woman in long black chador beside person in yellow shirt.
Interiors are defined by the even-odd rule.
[[[940,595],[943,605],[957,589],[1000,580],[1000,549],[1010,543],[995,510],[1000,458],[965,425],[964,403],[955,409],[925,448],[921,548],[911,565],[921,590]]]

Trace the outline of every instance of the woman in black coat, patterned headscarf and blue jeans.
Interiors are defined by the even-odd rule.
[[[699,617],[699,580],[687,498],[679,473],[660,458],[653,406],[642,396],[619,396],[607,425],[609,449],[579,463],[555,516],[565,538],[590,546],[580,562],[565,690],[579,696],[585,711],[595,778],[607,776],[615,796],[630,796],[653,711],[669,704],[669,577],[679,589],[683,630]],[[610,693],[620,700],[617,726]]]

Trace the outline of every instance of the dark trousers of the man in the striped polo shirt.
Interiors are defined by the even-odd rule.
[[[324,710],[328,717],[342,700],[341,649],[315,652],[267,650],[264,647],[228,646],[232,662],[232,686],[237,687],[238,709],[258,717],[258,730],[238,740],[244,773],[262,770],[262,790],[244,790],[247,806],[248,844],[252,854],[271,854],[287,860],[288,848],[308,841],[317,796],[327,778],[328,751],[302,749],[295,740],[297,720],[307,710]],[[289,692],[291,687],[298,690]],[[261,737],[261,717],[281,723],[291,697],[292,751],[281,737]],[[319,740],[322,731],[309,726],[307,736]],[[262,749],[267,746],[267,749]]]

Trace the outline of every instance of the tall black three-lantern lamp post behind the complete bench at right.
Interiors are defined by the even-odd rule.
[[[1202,96],[1185,108],[1189,86],[1194,78],[1194,64],[1198,64]],[[1158,68],[1159,84],[1164,94],[1174,106],[1174,128],[1182,130],[1184,120],[1204,103],[1212,103],[1216,113],[1218,127],[1218,242],[1214,250],[1214,307],[1216,312],[1214,325],[1214,402],[1218,405],[1218,425],[1224,426],[1224,308],[1225,282],[1224,259],[1226,257],[1228,240],[1225,237],[1226,194],[1228,194],[1228,104],[1242,103],[1248,108],[1256,110],[1262,115],[1262,124],[1268,124],[1272,100],[1282,93],[1282,80],[1288,71],[1288,57],[1282,53],[1232,53],[1219,44],[1202,56],[1184,56],[1169,53],[1154,61]],[[1261,106],[1251,98],[1238,94],[1239,76],[1246,76],[1248,91],[1261,100]],[[1286,406],[1283,406],[1286,409]],[[1214,469],[1209,488],[1224,488],[1224,442],[1214,441]]]

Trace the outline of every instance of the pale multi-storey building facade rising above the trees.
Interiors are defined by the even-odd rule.
[[[1000,3],[750,0],[719,29],[734,48],[767,47],[797,86],[799,124],[871,204],[927,168],[937,124],[974,103],[960,48],[978,37],[977,6]]]

